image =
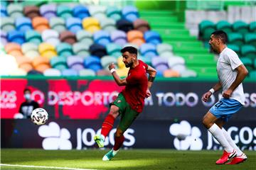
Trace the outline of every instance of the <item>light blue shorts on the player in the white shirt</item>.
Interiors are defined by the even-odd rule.
[[[222,118],[227,122],[228,118],[238,112],[240,108],[242,108],[242,104],[239,101],[232,98],[221,98],[209,111],[215,115],[216,118]]]

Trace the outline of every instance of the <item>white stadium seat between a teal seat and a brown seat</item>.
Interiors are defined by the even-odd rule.
[[[42,32],[43,42],[47,42],[54,47],[60,44],[59,33],[56,30],[43,30]]]

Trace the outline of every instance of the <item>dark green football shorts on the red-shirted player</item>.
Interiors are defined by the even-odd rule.
[[[117,96],[117,99],[112,104],[119,108],[121,120],[119,122],[118,128],[124,132],[129,128],[130,125],[132,125],[133,121],[137,118],[139,113],[134,111],[131,106],[129,106],[129,103],[125,101],[122,93]]]

